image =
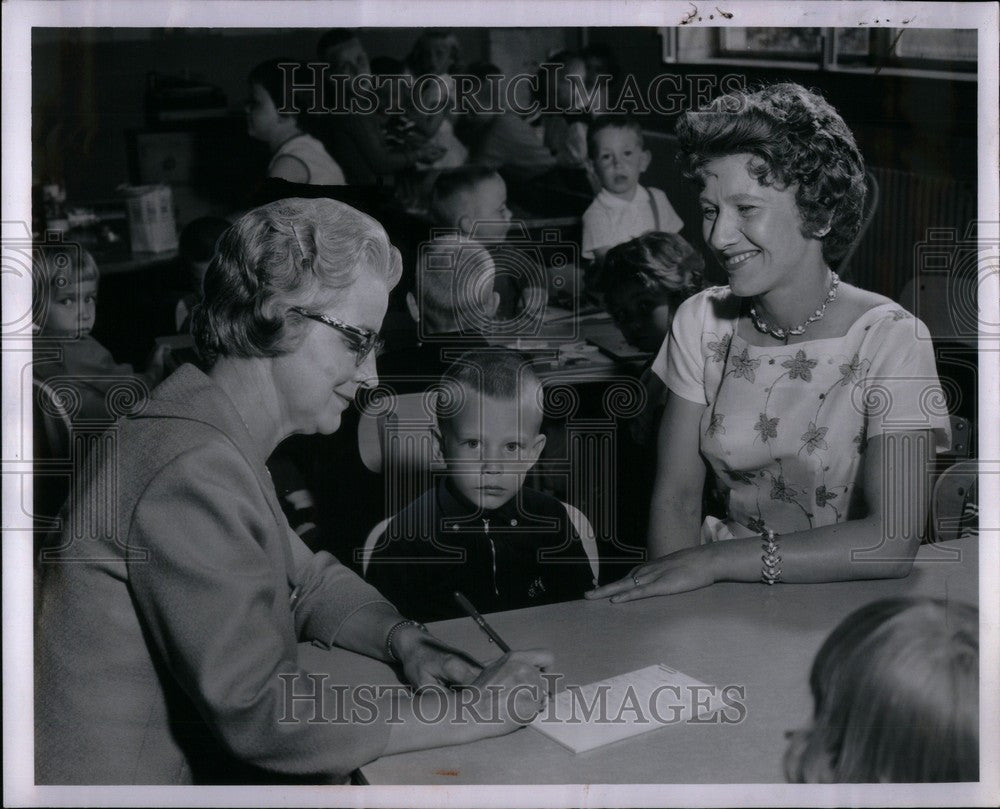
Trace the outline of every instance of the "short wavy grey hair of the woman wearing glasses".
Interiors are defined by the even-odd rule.
[[[392,288],[399,251],[369,216],[331,199],[283,199],[241,217],[219,239],[192,332],[205,363],[220,356],[274,357],[294,350],[303,318],[364,272]]]

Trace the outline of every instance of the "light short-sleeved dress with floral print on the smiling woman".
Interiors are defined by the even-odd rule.
[[[871,436],[933,430],[939,450],[950,445],[930,336],[898,305],[868,310],[843,337],[767,347],[736,333],[740,311],[729,287],[692,297],[657,360],[675,394],[706,405],[701,453],[729,519],[709,518],[703,539],[863,516]]]

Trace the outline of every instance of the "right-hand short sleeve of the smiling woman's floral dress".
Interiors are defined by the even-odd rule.
[[[867,349],[867,350],[866,350]],[[866,355],[870,367],[864,368]],[[927,327],[902,309],[873,323],[855,371],[867,370],[862,393],[869,437],[888,432],[932,430],[938,452],[951,447],[951,422]],[[852,369],[842,369],[845,373]]]

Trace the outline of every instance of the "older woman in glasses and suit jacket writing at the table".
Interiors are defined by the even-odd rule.
[[[264,465],[292,433],[335,431],[376,381],[399,275],[381,226],[330,200],[272,203],[223,235],[194,325],[211,370],[180,368],[111,435],[115,452],[81,481],[41,559],[39,783],[343,780],[383,754],[498,735],[538,710],[547,653],[483,668],[435,640],[308,551]],[[446,699],[500,721],[416,721],[437,714],[418,704],[426,691],[381,699],[374,717],[359,704],[370,721],[309,722],[308,706],[289,721],[286,689],[315,686],[298,676],[306,640],[398,662],[416,685],[471,684]],[[351,715],[350,694],[338,692],[338,715]]]

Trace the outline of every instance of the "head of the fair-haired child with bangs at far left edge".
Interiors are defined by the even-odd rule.
[[[46,245],[32,257],[34,322],[46,337],[84,337],[97,318],[97,264],[75,244]]]

